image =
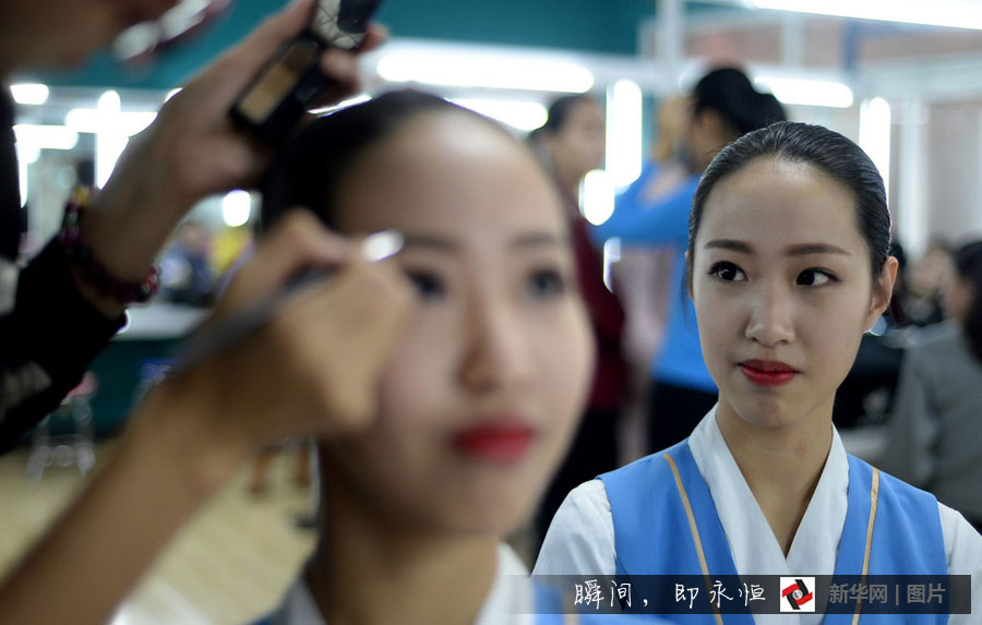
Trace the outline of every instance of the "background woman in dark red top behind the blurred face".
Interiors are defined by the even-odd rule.
[[[549,107],[542,128],[529,143],[552,172],[564,200],[579,290],[586,300],[598,346],[597,369],[586,412],[563,466],[542,497],[536,517],[541,541],[570,489],[616,467],[616,432],[626,385],[621,353],[624,310],[603,283],[603,257],[594,247],[588,224],[579,211],[579,185],[587,172],[603,161],[603,113],[597,100],[585,95],[564,96]]]

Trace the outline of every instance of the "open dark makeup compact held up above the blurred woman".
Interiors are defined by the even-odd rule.
[[[357,50],[381,0],[318,0],[307,28],[285,44],[229,113],[270,144],[280,144],[330,86],[321,71],[327,48]]]

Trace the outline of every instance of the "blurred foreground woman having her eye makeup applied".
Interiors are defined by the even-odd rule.
[[[308,125],[263,201],[264,225],[303,205],[400,232],[418,296],[366,421],[321,437],[320,541],[267,622],[541,622],[501,540],[565,452],[594,359],[548,175],[493,122],[400,92]]]

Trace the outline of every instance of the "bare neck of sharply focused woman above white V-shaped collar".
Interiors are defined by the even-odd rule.
[[[740,417],[720,397],[720,432],[785,555],[831,448],[833,399],[793,423],[763,426]]]

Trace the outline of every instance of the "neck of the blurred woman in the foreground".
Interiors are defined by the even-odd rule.
[[[324,503],[307,581],[328,624],[475,621],[494,581],[496,536],[407,529],[350,498]]]

